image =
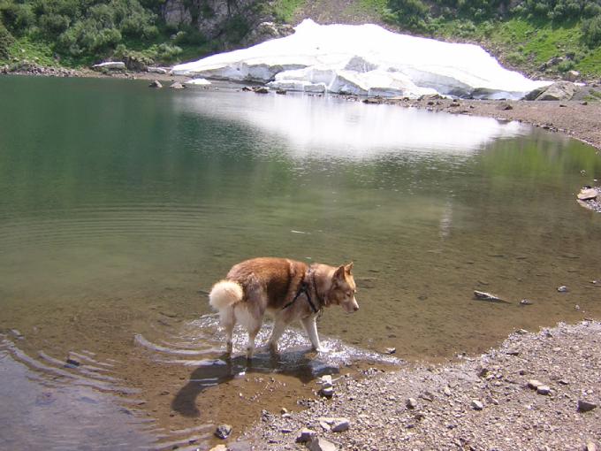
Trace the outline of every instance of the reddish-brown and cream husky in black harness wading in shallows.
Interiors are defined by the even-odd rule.
[[[225,328],[228,354],[232,353],[233,327],[238,321],[248,331],[247,356],[252,357],[265,312],[274,317],[267,343],[271,350],[278,350],[286,326],[300,319],[313,348],[321,351],[316,318],[323,308],[339,305],[348,313],[359,310],[352,269],[353,263],[335,268],[271,257],[232,266],[209,293],[209,304],[219,311]]]

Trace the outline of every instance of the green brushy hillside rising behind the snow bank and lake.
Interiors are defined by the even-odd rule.
[[[140,70],[289,34],[305,18],[475,42],[533,77],[601,76],[601,0],[0,0],[0,64]]]

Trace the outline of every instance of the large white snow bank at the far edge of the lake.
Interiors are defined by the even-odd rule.
[[[551,84],[506,70],[476,45],[311,19],[290,36],[176,65],[173,73],[369,96],[520,98]]]

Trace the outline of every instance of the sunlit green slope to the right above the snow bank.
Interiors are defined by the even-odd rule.
[[[522,71],[601,75],[599,0],[389,0],[384,19],[418,34],[478,42]]]

